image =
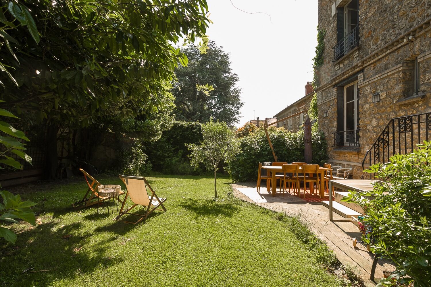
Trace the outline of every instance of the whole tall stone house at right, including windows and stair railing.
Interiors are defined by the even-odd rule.
[[[360,178],[364,158],[387,162],[431,140],[431,1],[318,5],[318,28],[326,31],[316,69],[319,128],[329,163],[353,167]]]

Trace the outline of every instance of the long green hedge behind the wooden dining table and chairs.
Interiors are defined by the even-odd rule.
[[[269,137],[278,161],[304,161],[304,132],[290,133],[283,128],[271,127]],[[327,143],[323,133],[312,130],[313,163],[324,164],[328,159]],[[259,162],[272,162],[271,149],[265,131],[260,128],[255,133],[240,138],[240,154],[230,162],[228,170],[235,181],[256,180]]]

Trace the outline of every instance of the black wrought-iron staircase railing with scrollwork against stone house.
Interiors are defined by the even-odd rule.
[[[386,163],[394,154],[407,154],[416,149],[424,140],[431,140],[431,113],[414,114],[405,117],[394,117],[372,147],[366,151],[362,160],[362,170],[365,163],[368,166]],[[374,174],[369,174],[370,179]]]

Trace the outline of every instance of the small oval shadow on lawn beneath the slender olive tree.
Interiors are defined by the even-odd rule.
[[[239,212],[239,208],[230,202],[213,201],[211,199],[187,198],[177,205],[196,213],[196,216],[225,215],[231,217]]]

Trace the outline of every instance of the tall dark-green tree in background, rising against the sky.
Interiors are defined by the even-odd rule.
[[[211,119],[233,125],[240,115],[241,89],[238,76],[232,72],[229,54],[209,41],[206,53],[190,45],[181,52],[187,55],[187,67],[178,67],[174,84],[175,117],[178,120],[206,123]],[[214,90],[202,88],[211,85]]]

